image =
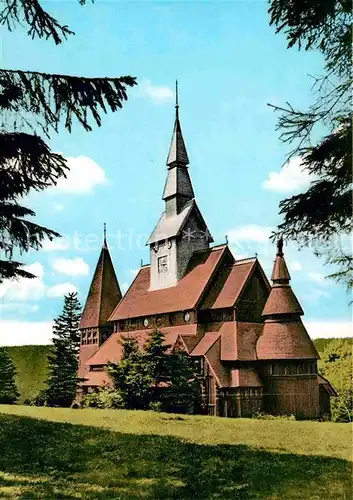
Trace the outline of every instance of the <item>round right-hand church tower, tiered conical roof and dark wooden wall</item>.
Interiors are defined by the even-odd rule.
[[[256,344],[257,359],[264,371],[264,410],[317,418],[319,355],[302,323],[304,311],[290,286],[282,239],[277,244],[271,279],[272,288],[262,312],[265,323]]]

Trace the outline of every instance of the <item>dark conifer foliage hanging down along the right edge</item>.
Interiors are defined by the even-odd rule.
[[[324,73],[313,76],[314,101],[307,110],[287,103],[280,113],[280,138],[313,174],[307,191],[280,202],[279,236],[312,246],[331,278],[353,285],[352,224],[352,3],[347,0],[270,0],[270,24],[285,34],[288,48],[319,50]]]

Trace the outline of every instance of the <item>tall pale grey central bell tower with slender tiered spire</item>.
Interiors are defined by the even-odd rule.
[[[162,197],[165,210],[147,242],[151,259],[150,290],[175,286],[184,276],[192,254],[208,248],[213,241],[195,201],[188,165],[176,82],[175,122]]]

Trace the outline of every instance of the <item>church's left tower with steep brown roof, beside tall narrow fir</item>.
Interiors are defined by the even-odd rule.
[[[108,318],[121,300],[121,291],[107,245],[104,241],[80,321],[80,372],[103,342],[113,333]],[[81,373],[82,375],[82,373]]]

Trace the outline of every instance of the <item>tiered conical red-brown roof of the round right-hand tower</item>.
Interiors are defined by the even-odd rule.
[[[256,344],[258,359],[317,359],[318,353],[300,318],[304,311],[289,283],[282,239],[277,243],[272,282],[262,312],[265,324]]]

